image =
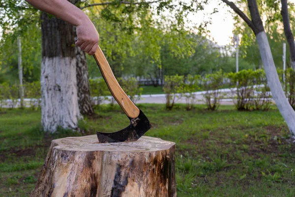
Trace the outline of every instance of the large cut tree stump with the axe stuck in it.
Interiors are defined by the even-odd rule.
[[[98,143],[96,135],[52,141],[31,197],[176,197],[175,143],[143,136]]]

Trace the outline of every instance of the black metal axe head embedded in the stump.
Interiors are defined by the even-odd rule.
[[[138,117],[128,118],[130,119],[130,125],[125,129],[110,133],[97,131],[99,143],[137,141],[152,127],[147,116],[141,110]]]

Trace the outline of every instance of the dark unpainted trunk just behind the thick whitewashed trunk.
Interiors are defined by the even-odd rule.
[[[80,113],[83,115],[94,114],[90,90],[89,90],[89,79],[88,79],[88,67],[86,61],[86,55],[80,47],[75,47],[76,49],[76,72],[77,72],[77,88],[78,88],[78,104]]]

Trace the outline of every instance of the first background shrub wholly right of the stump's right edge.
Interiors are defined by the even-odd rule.
[[[186,110],[191,110],[196,103],[195,92],[200,90],[198,82],[201,80],[201,75],[188,75],[186,77],[186,83],[183,83],[183,96],[186,101]]]

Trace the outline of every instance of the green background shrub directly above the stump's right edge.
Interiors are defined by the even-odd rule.
[[[165,76],[163,91],[166,94],[166,109],[172,109],[176,99],[181,98],[183,93],[183,76]]]

